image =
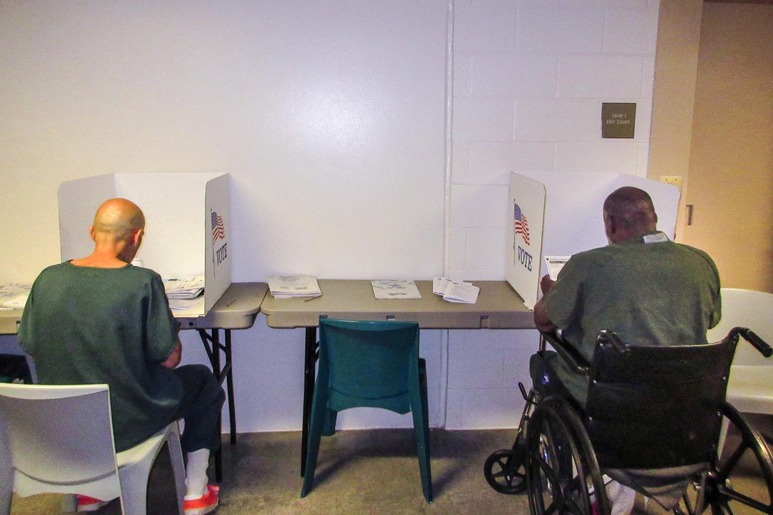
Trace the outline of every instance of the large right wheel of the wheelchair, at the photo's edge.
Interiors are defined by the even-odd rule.
[[[707,473],[703,510],[710,508],[712,515],[773,515],[773,455],[768,445],[733,406],[724,405],[722,414],[729,428],[722,456]],[[675,515],[700,515],[696,507],[700,480],[693,477],[693,486],[673,510]]]

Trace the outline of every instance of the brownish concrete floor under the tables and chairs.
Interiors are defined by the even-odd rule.
[[[299,469],[300,432],[239,435],[236,446],[223,447],[223,483],[220,484],[220,515],[412,515],[425,513],[529,513],[525,495],[496,493],[485,482],[483,462],[497,449],[512,445],[514,430],[431,431],[431,468],[434,503],[421,493],[413,434],[407,429],[346,431],[323,438],[315,487],[301,499]],[[169,461],[165,451],[154,467],[148,490],[148,515],[176,513],[169,483]],[[213,477],[210,469],[210,477]],[[764,483],[754,469],[734,479],[762,499]],[[61,513],[60,496],[14,497],[12,515]],[[767,502],[767,501],[766,501]],[[98,512],[117,515],[113,502]],[[666,513],[639,496],[635,515]],[[708,512],[707,512],[708,513]],[[735,515],[758,513],[734,510]]]

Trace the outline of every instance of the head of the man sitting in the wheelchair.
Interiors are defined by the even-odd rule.
[[[649,194],[633,186],[623,186],[604,201],[604,217],[613,222],[618,231],[631,236],[645,235],[655,231],[658,216]]]

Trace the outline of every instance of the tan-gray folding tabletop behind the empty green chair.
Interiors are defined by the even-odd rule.
[[[432,293],[432,281],[416,281],[421,299],[376,300],[369,280],[319,280],[322,296],[274,299],[261,304],[269,327],[316,327],[321,315],[351,320],[414,320],[424,329],[533,329],[533,311],[506,281],[472,281],[475,304],[452,303]]]

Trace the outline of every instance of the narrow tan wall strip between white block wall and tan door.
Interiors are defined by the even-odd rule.
[[[661,0],[652,91],[652,130],[647,175],[683,177],[687,188],[693,100],[703,0]],[[683,195],[684,196],[684,195]],[[681,239],[684,202],[679,204],[676,239]]]

